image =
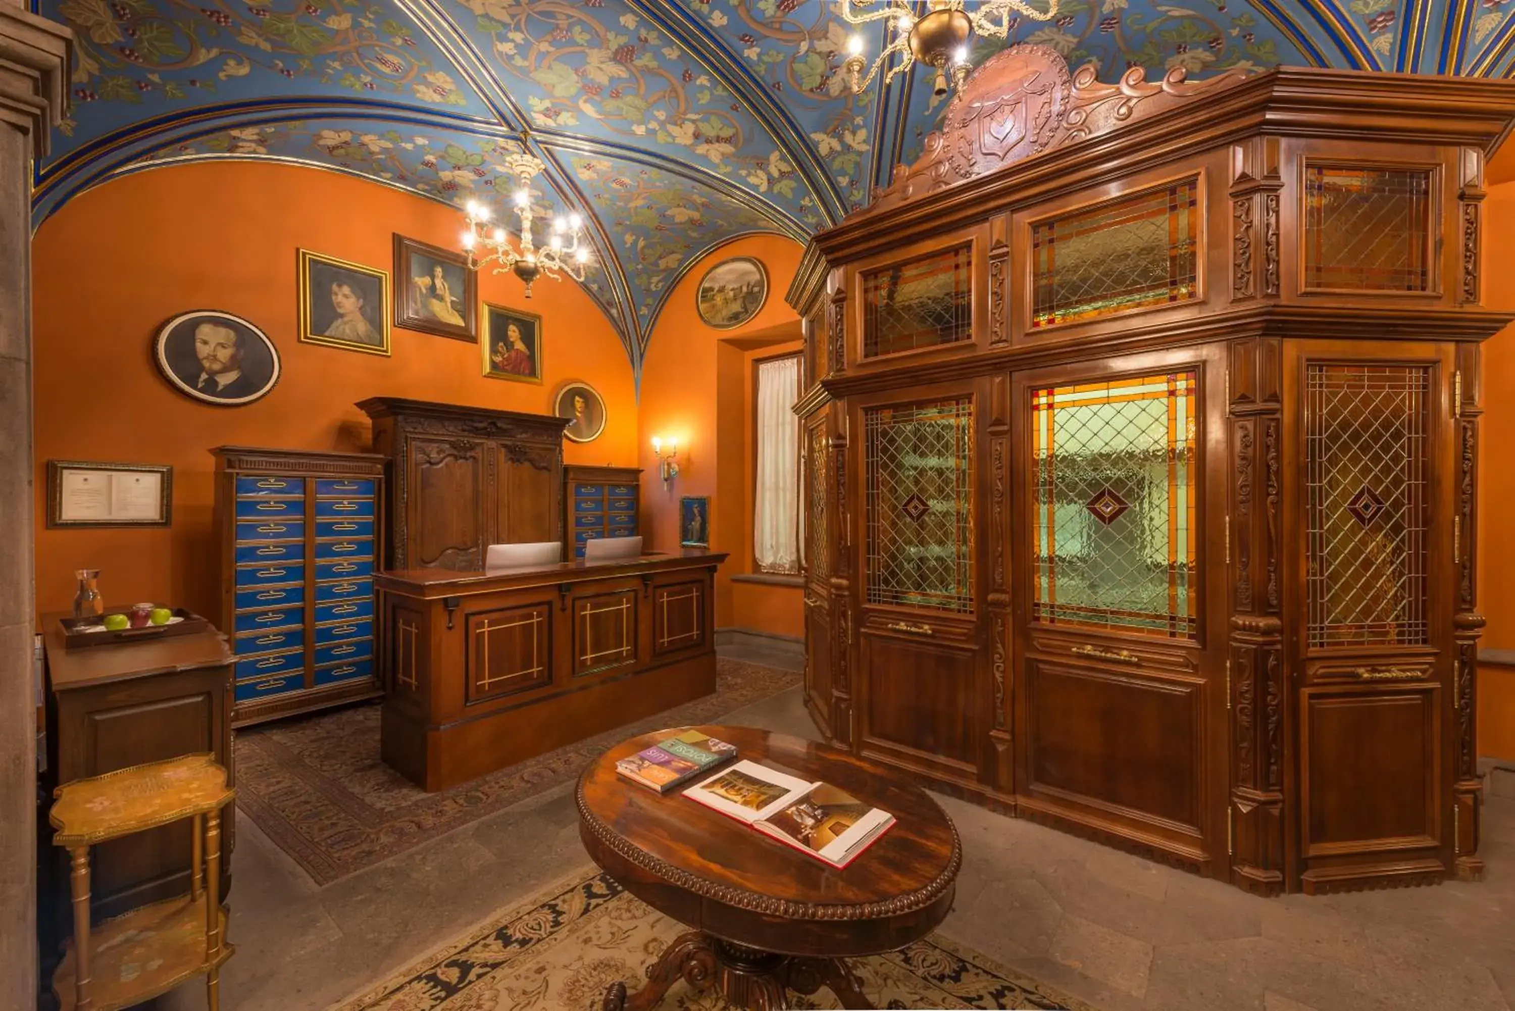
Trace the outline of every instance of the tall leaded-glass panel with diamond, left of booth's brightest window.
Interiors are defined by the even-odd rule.
[[[973,400],[864,412],[868,603],[973,609]]]

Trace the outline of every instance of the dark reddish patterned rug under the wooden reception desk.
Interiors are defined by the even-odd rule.
[[[326,885],[568,782],[627,737],[718,723],[798,684],[798,673],[720,659],[715,694],[441,793],[379,758],[379,705],[251,728],[236,734],[236,806]]]

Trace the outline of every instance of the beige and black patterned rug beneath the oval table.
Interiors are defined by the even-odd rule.
[[[632,993],[645,967],[685,928],[585,872],[470,931],[395,973],[339,1011],[597,1011],[604,988]],[[1092,1011],[1035,979],[930,935],[891,955],[848,962],[877,1008],[1062,1008]],[[838,1008],[830,990],[789,994],[792,1008]],[[659,1011],[718,1011],[709,993],[679,981]]]

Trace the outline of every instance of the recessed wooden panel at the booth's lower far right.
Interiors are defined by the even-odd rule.
[[[1441,690],[1303,694],[1304,856],[1436,846],[1442,808]]]

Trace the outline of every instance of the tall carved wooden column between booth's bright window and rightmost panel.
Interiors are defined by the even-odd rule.
[[[1264,896],[1283,891],[1283,753],[1286,685],[1280,571],[1282,347],[1277,338],[1233,341],[1227,370],[1232,573],[1230,709],[1232,882]]]

